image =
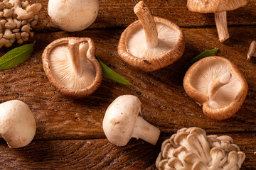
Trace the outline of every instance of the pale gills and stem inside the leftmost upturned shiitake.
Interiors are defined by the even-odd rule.
[[[77,43],[70,40],[69,45],[58,45],[49,54],[53,74],[68,89],[85,89],[96,77],[95,67],[87,60],[89,44]]]

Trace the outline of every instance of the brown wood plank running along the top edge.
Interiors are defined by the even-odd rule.
[[[100,13],[90,28],[124,28],[137,20],[133,7],[139,0],[100,1]],[[186,7],[187,0],[146,1],[155,16],[160,16],[181,27],[215,27],[213,13],[192,13]],[[59,30],[50,20],[47,12],[48,0],[36,0],[43,4],[39,14],[39,23],[34,30],[40,32]],[[256,25],[256,0],[248,0],[245,7],[228,11],[229,26]]]

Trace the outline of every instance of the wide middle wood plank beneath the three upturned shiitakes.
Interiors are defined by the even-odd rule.
[[[117,54],[122,30],[85,30],[80,33],[41,33],[37,35],[33,55],[18,67],[0,72],[1,102],[19,99],[30,106],[36,117],[37,140],[95,139],[105,137],[102,119],[107,107],[120,95],[136,95],[142,101],[145,120],[162,133],[183,127],[198,126],[207,132],[256,132],[256,71],[255,63],[246,60],[247,49],[255,28],[230,28],[230,39],[218,42],[214,28],[183,29],[186,51],[180,60],[156,72],[142,72],[130,67]],[[99,89],[87,98],[70,99],[61,96],[43,72],[41,55],[44,48],[57,38],[91,37],[96,55],[115,72],[126,77],[132,86],[104,79]],[[183,90],[183,65],[204,50],[218,47],[218,55],[232,60],[249,84],[244,105],[228,120],[206,118],[201,108]],[[6,52],[1,49],[0,55]]]

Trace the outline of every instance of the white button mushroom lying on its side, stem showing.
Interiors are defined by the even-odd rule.
[[[138,116],[141,104],[137,96],[124,95],[116,98],[107,108],[102,127],[112,144],[124,146],[135,137],[156,145],[160,130]]]

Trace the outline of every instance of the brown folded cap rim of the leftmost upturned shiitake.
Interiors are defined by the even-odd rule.
[[[89,49],[92,56],[87,57],[87,60],[89,60],[93,67],[95,67],[96,70],[96,77],[95,81],[93,83],[86,87],[85,89],[68,89],[66,86],[64,86],[57,77],[55,77],[55,74],[53,74],[52,70],[50,69],[50,60],[49,60],[49,54],[50,51],[57,47],[58,45],[67,44],[68,41],[74,39],[78,40],[79,42],[85,42],[87,41],[90,45]],[[95,42],[91,38],[75,38],[75,37],[69,37],[69,38],[60,38],[58,40],[55,40],[51,42],[46,49],[43,51],[42,55],[42,62],[43,62],[43,69],[46,72],[46,76],[48,77],[49,81],[53,86],[55,86],[58,91],[60,91],[61,94],[64,96],[68,96],[71,98],[83,98],[86,96],[89,96],[92,94],[96,89],[100,86],[102,81],[102,68],[100,66],[100,63],[95,58]]]

